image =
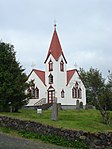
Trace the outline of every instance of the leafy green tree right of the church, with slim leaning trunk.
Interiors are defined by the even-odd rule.
[[[108,123],[107,100],[112,92],[110,92],[109,84],[105,84],[105,79],[102,77],[102,73],[99,70],[90,68],[85,72],[84,69],[80,69],[80,76],[87,89],[87,102],[92,103],[99,109],[103,122]],[[108,94],[109,93],[109,94]]]

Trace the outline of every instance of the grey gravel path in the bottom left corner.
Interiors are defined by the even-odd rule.
[[[70,149],[0,133],[0,149]]]

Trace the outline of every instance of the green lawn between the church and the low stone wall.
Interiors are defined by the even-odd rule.
[[[36,110],[22,109],[18,113],[4,113],[0,115],[10,116],[23,120],[31,120],[55,127],[83,130],[89,132],[112,131],[112,125],[105,125],[98,110],[59,110],[58,120],[51,120],[51,110],[42,111],[39,116]]]

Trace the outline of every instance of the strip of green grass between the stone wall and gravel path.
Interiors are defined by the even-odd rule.
[[[44,136],[44,135],[40,135],[40,134],[37,134],[37,133],[26,132],[24,130],[17,131],[17,130],[13,130],[11,128],[6,128],[6,127],[0,127],[0,132],[8,133],[8,134],[11,134],[13,136],[14,135],[21,136],[21,137],[24,137],[24,138],[27,138],[27,139],[33,139],[35,141],[37,139],[39,139],[39,140],[41,140],[45,143],[51,143],[51,144],[64,146],[64,147],[72,147],[72,148],[75,148],[75,149],[88,149],[89,148],[89,146],[87,146],[82,141],[78,141],[78,140],[68,141],[68,140],[65,140],[62,137],[55,136],[55,135]]]

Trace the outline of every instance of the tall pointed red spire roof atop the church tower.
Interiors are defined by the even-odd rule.
[[[54,59],[56,61],[58,61],[59,57],[62,55],[65,62],[67,63],[67,61],[64,57],[62,48],[61,48],[61,44],[60,44],[56,29],[54,30],[54,33],[53,33],[53,37],[52,37],[52,40],[51,40],[51,44],[50,44],[50,47],[49,47],[49,51],[48,51],[45,63],[46,63],[46,61],[47,61],[50,54],[52,54],[52,56],[54,57]]]

